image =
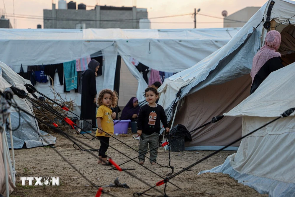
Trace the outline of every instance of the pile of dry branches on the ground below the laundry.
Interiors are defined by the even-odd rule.
[[[65,107],[67,107],[69,110],[73,111],[74,106],[75,106],[75,102],[73,100],[67,101],[66,97],[65,99],[63,99],[60,94],[58,92],[55,91],[55,89],[53,87],[50,87],[50,92],[54,95],[54,100],[55,102],[59,103],[60,105],[63,105]],[[37,101],[37,99],[36,99]],[[43,104],[46,104],[47,107],[48,105],[50,107],[52,107],[54,110],[56,110],[58,113],[60,113],[61,115],[63,115],[63,117],[68,117],[71,119],[72,115],[71,113],[63,110],[62,108],[60,108],[60,106],[56,105],[54,102],[48,100],[45,98],[45,101],[43,101]],[[35,104],[36,105],[36,104]],[[67,124],[65,124],[61,118],[59,118],[57,115],[51,113],[50,111],[48,111],[47,109],[44,109],[42,106],[36,105],[36,107],[38,107],[39,109],[36,109],[35,106],[33,106],[33,111],[35,113],[35,116],[37,118],[40,118],[43,122],[52,125],[53,121],[54,123],[56,123],[58,125],[58,127],[63,130],[63,131],[69,131],[69,126]],[[48,120],[48,118],[44,115],[44,114],[50,119]],[[38,125],[39,128],[42,131],[46,131],[46,132],[54,132],[54,129],[50,128],[49,126],[41,123],[40,121],[38,121]]]

